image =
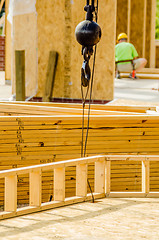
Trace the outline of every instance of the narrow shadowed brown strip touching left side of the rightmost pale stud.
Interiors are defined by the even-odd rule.
[[[152,0],[147,0],[146,14],[146,43],[145,43],[145,58],[147,59],[146,67],[150,66],[150,44],[151,44],[151,4]]]

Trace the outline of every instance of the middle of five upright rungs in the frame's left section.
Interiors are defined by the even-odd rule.
[[[54,169],[54,200],[65,200],[65,168]]]

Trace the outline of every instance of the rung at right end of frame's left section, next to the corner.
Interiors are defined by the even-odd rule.
[[[105,193],[105,160],[95,162],[95,192]]]

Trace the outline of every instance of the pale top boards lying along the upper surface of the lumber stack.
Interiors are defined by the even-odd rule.
[[[85,105],[85,114],[89,105]],[[104,104],[92,104],[92,115],[119,115],[119,114],[137,114],[147,113],[147,110],[156,111],[156,107],[152,106],[116,106],[116,105],[104,105]],[[39,102],[0,102],[0,115],[81,115],[82,104],[70,104],[70,103],[39,103]]]

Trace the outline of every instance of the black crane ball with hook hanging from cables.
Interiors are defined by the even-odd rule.
[[[84,62],[81,69],[81,83],[83,87],[89,85],[91,78],[91,70],[89,67],[89,60],[93,54],[93,46],[96,45],[101,39],[101,28],[93,21],[93,13],[95,12],[94,0],[86,1],[84,10],[86,11],[86,20],[80,22],[75,30],[76,40],[82,45],[82,55]]]

